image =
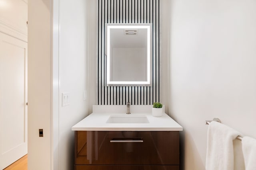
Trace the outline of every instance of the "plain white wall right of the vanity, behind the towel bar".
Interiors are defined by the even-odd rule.
[[[204,169],[204,120],[256,138],[255,8],[254,0],[162,0],[169,114],[184,128],[184,170]]]

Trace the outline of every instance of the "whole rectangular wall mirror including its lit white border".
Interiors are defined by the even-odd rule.
[[[151,24],[106,24],[107,86],[150,86]]]

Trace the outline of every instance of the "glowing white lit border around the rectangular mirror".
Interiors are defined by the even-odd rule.
[[[110,81],[110,29],[147,29],[147,78],[146,81]],[[152,35],[151,23],[137,23],[137,24],[106,24],[107,31],[107,66],[106,66],[106,85],[147,85],[150,86],[150,59],[151,59],[151,35]]]

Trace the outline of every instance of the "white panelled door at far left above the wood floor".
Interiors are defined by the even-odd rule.
[[[0,32],[0,170],[27,154],[27,43]]]

